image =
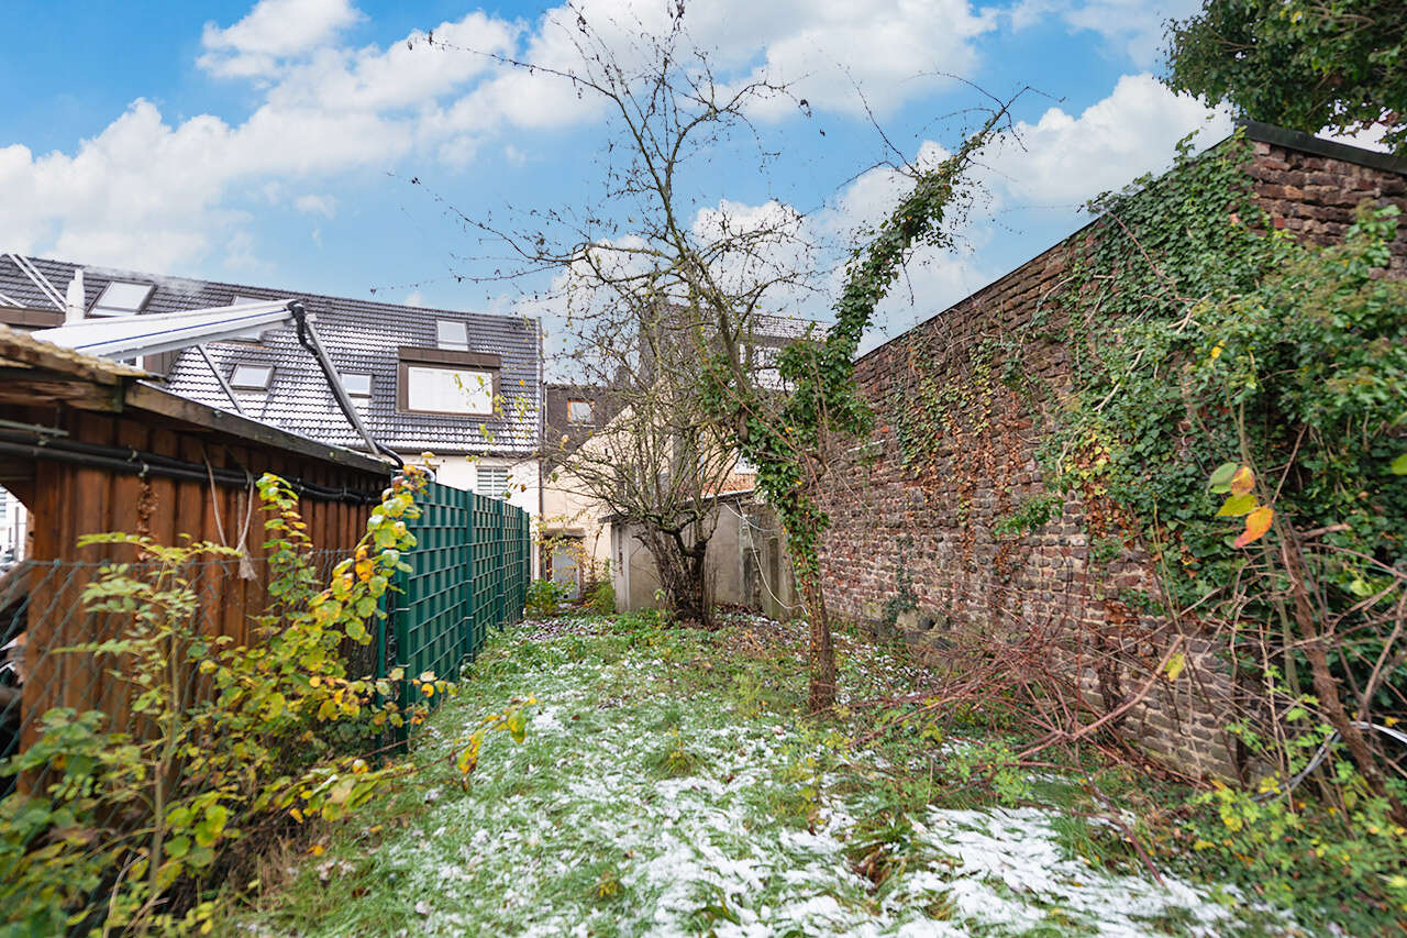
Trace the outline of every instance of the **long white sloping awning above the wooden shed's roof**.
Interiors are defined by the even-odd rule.
[[[307,318],[311,320],[312,315]],[[190,313],[89,318],[41,330],[32,338],[86,355],[122,359],[160,355],[222,339],[257,339],[260,332],[294,324],[288,300],[269,300]]]

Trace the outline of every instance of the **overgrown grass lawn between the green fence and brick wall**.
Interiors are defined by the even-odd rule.
[[[505,631],[426,724],[415,783],[329,830],[325,853],[227,928],[1286,934],[1234,893],[1155,883],[1078,813],[1092,806],[1069,779],[1003,807],[967,782],[981,745],[919,723],[853,745],[874,713],[855,704],[922,676],[900,648],[840,635],[841,707],[803,718],[802,649],[801,628],[746,618],[716,632],[639,617]],[[490,737],[461,790],[450,742],[529,694],[525,742]]]

